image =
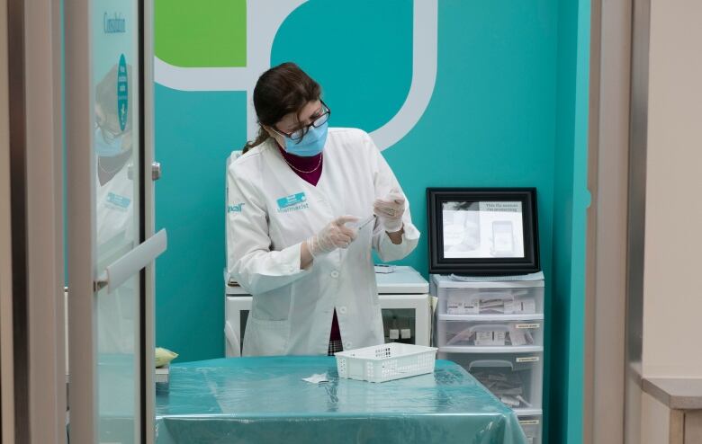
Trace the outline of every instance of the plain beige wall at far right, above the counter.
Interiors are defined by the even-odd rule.
[[[702,377],[702,2],[651,1],[644,377]]]

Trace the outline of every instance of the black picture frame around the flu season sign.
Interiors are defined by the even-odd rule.
[[[444,252],[443,209],[445,207],[444,204],[448,202],[455,203],[457,206],[478,202],[521,202],[523,243],[520,245],[523,245],[524,255],[510,257],[446,257]],[[453,273],[469,276],[512,276],[535,273],[541,270],[536,188],[428,188],[427,208],[429,273]],[[493,236],[495,236],[495,224],[496,222],[492,223]]]

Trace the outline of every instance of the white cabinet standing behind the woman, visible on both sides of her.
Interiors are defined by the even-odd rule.
[[[429,345],[431,309],[429,284],[411,267],[395,267],[392,273],[376,273],[383,314],[385,342]],[[225,354],[241,355],[251,296],[238,286],[227,285],[225,297]]]

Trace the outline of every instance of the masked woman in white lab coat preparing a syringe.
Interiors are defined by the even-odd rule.
[[[253,97],[258,138],[229,166],[227,266],[253,295],[247,356],[383,343],[371,250],[399,260],[419,240],[373,140],[360,129],[329,129],[320,95],[293,63],[266,71]]]

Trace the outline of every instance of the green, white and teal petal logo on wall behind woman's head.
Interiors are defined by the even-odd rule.
[[[180,91],[245,91],[250,102],[258,75],[293,60],[335,98],[337,122],[367,129],[380,149],[404,138],[428,107],[437,81],[438,0],[207,4],[156,0],[158,84]],[[323,37],[311,51],[306,39],[312,29]],[[365,95],[358,97],[349,83],[364,84]],[[370,101],[373,107],[366,105]],[[247,138],[257,131],[249,106]]]

